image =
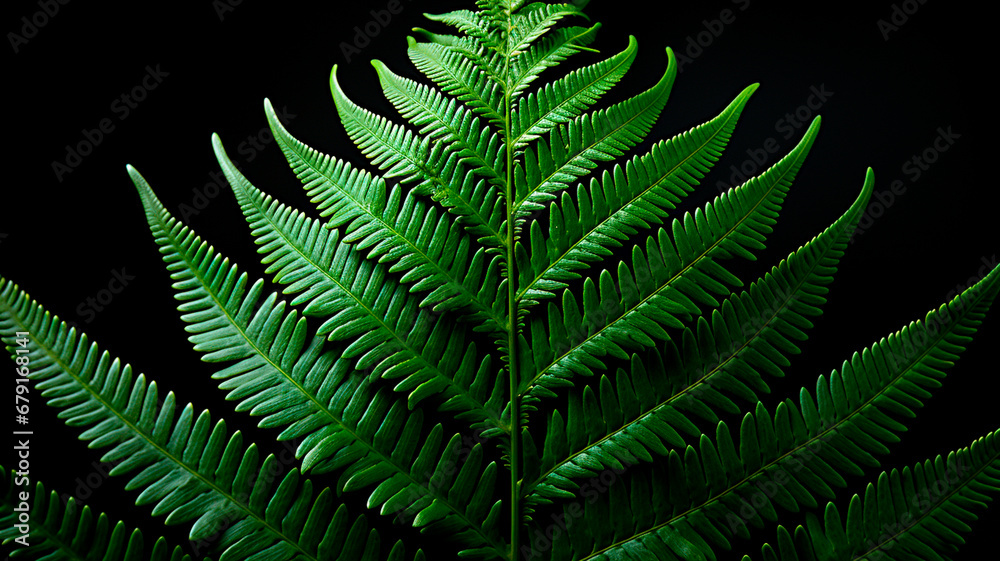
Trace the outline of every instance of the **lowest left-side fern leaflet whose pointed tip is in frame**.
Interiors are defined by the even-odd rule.
[[[229,399],[240,400],[237,410],[263,416],[262,427],[284,428],[279,440],[302,438],[296,457],[302,458],[303,471],[342,470],[340,490],[378,484],[369,498],[370,508],[399,513],[399,518],[419,526],[447,525],[471,547],[490,544],[494,553],[502,551],[502,542],[491,535],[495,524],[486,524],[489,505],[482,502],[484,496],[492,496],[496,466],[480,472],[481,446],[476,445],[472,463],[462,468],[482,473],[478,480],[429,471],[431,459],[445,465],[460,463],[454,446],[461,441],[459,435],[443,450],[440,424],[431,437],[420,439],[422,413],[408,413],[403,402],[352,372],[348,361],[323,352],[324,337],[315,337],[303,351],[305,319],[294,310],[285,314],[284,302],[276,303],[274,294],[261,302],[260,281],[247,294],[246,274],[170,216],[138,172],[130,168],[129,173],[173,272],[177,298],[184,302],[182,319],[194,333],[190,340],[195,350],[206,352],[208,362],[238,361],[213,376],[225,380],[220,387],[230,390]],[[473,349],[467,357],[474,356]],[[471,367],[468,358],[465,363]],[[458,498],[472,498],[472,484],[485,495],[477,494],[478,502],[456,503]],[[479,516],[473,519],[469,514]]]

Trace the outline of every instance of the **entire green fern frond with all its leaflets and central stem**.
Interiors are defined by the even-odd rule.
[[[408,42],[425,79],[373,61],[398,116],[352,101],[335,67],[337,113],[371,169],[296,138],[265,100],[289,179],[313,209],[253,185],[214,136],[277,290],[176,220],[129,166],[194,350],[217,365],[236,412],[291,441],[294,458],[262,460],[227,423],[178,407],[0,279],[8,350],[30,357],[25,375],[82,439],[108,449],[137,504],[189,524],[223,560],[419,560],[424,550],[712,560],[801,510],[813,513],[806,525],[778,527],[766,559],[950,555],[1000,486],[992,433],[947,460],[883,473],[850,502],[846,524],[832,503],[816,513],[881,466],[983,320],[1000,269],[797,399],[771,398],[769,379],[790,372],[822,313],[874,175],[832,225],[745,285],[732,260],[764,248],[820,119],[759,176],[678,213],[724,157],[757,84],[642,147],[677,60],[666,49],[655,83],[602,107],[649,60],[630,37],[561,71],[594,50],[600,25],[586,3],[477,0],[429,16],[439,29]],[[377,524],[428,540],[406,544],[408,557],[348,513],[340,501],[354,494]],[[54,497],[36,489],[38,544],[19,555],[143,551],[139,533]],[[151,555],[183,554],[161,540]]]

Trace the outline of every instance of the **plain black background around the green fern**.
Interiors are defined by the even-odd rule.
[[[405,55],[408,30],[417,25],[440,29],[421,13],[467,4],[403,0],[403,12],[350,60],[344,42],[353,40],[355,26],[373,20],[369,10],[386,2],[244,1],[220,12],[221,3],[208,0],[181,6],[77,0],[60,6],[17,53],[8,35],[7,174],[0,198],[0,233],[6,236],[0,236],[0,274],[78,323],[102,348],[131,362],[161,388],[176,391],[180,401],[193,401],[197,409],[211,406],[216,417],[260,434],[263,438],[255,440],[266,443],[273,435],[254,432],[255,423],[245,418],[237,420],[240,415],[219,399],[208,377],[212,369],[191,351],[125,164],[136,166],[179,216],[181,205],[202,202],[196,192],[214,194],[204,186],[218,170],[210,147],[210,135],[217,132],[257,186],[308,209],[273,143],[260,151],[249,143],[240,149],[266,130],[263,98],[287,107],[294,135],[361,165],[363,157],[344,134],[329,96],[330,67],[340,65],[342,84],[356,102],[395,115],[368,59],[379,58],[397,73],[416,77]],[[811,88],[833,92],[819,111],[822,131],[768,249],[758,262],[739,268],[754,275],[750,278],[840,216],[860,190],[868,166],[875,170],[876,191],[888,191],[893,180],[903,182],[905,193],[856,239],[842,261],[825,314],[794,360],[789,390],[814,387],[817,375],[922,317],[976,276],[983,260],[995,259],[995,156],[987,152],[995,145],[990,131],[995,101],[985,81],[995,67],[988,47],[995,31],[988,14],[967,5],[928,0],[891,30],[888,40],[877,22],[892,16],[891,2],[848,8],[759,0],[688,6],[598,0],[588,8],[592,19],[604,24],[594,45],[604,56],[624,48],[629,34],[639,40],[636,63],[609,101],[652,85],[666,64],[665,46],[691,57],[682,62],[652,139],[710,119],[745,86],[761,83],[727,154],[692,197],[693,204],[714,196],[717,182],[729,181],[730,166],[742,165],[747,150],[761,148],[768,138],[777,141],[780,153],[789,150],[804,129],[785,139],[776,128],[779,120],[805,104]],[[700,51],[692,47],[689,41],[697,42],[725,9],[735,20],[710,40],[703,34],[707,46]],[[4,31],[21,33],[20,18],[30,19],[39,10],[35,2],[6,2],[0,19]],[[596,59],[583,55],[571,64]],[[157,65],[168,75],[120,119],[122,112],[112,104],[141,84],[147,66]],[[97,128],[104,118],[112,120],[114,130],[60,181],[53,162],[64,160],[67,145],[84,140],[82,131]],[[907,173],[904,164],[933,145],[939,128],[948,127],[960,135],[954,145],[919,178]],[[772,155],[765,165],[776,159]],[[207,206],[186,221],[245,270],[262,274],[231,194],[210,196]],[[81,313],[86,299],[107,288],[113,271],[123,269],[134,277],[129,285],[100,313]],[[967,446],[997,428],[992,358],[1000,343],[998,324],[996,317],[987,318],[953,375],[883,460],[886,469]],[[784,397],[783,389],[779,386],[778,396]],[[77,478],[91,471],[82,466],[96,462],[99,454],[75,440],[76,433],[39,401],[36,395],[33,475],[73,492]],[[159,534],[161,520],[149,517],[148,508],[129,508],[117,500],[123,494],[117,479],[102,482],[87,502],[113,519],[138,524],[147,535]],[[134,493],[128,496],[134,500]],[[1000,527],[998,522],[1000,510],[994,508],[976,523],[977,531],[957,558],[982,558],[977,552],[993,547],[991,530]],[[179,543],[184,530],[168,533]],[[760,532],[752,542],[737,542],[735,549],[759,558],[760,543],[773,536]]]

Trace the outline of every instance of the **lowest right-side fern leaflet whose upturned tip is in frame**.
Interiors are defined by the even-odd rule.
[[[826,286],[873,185],[869,170],[847,212],[748,291],[727,298],[711,323],[700,317],[697,335],[685,328],[680,349],[668,341],[662,355],[657,352],[647,360],[633,355],[630,374],[619,370],[614,384],[601,376],[599,391],[587,386],[582,395],[570,396],[566,421],[559,410],[553,411],[541,474],[525,486],[538,495],[533,499],[569,497],[578,487],[574,480],[684,449],[686,441],[696,441],[704,432],[692,415],[715,425],[718,413],[740,412],[733,398],[755,404],[759,393],[768,392],[761,374],[781,376],[781,367],[789,364],[785,355],[799,352],[794,341],[804,339],[803,330],[812,327],[808,316],[822,313]],[[584,419],[603,422],[587,424]]]

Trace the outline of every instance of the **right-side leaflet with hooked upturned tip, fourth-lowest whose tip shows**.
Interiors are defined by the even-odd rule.
[[[533,148],[525,148],[523,169],[515,174],[513,215],[519,224],[531,213],[544,210],[555,199],[554,193],[587,176],[597,162],[621,156],[649,134],[677,76],[677,60],[669,48],[667,57],[667,69],[652,88],[580,115],[552,129],[547,141],[539,138]]]

